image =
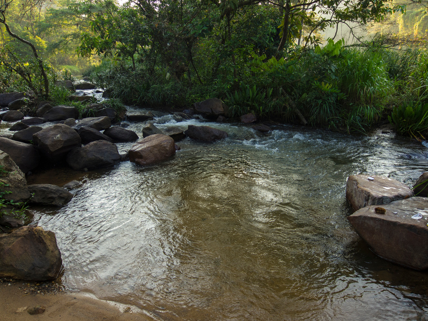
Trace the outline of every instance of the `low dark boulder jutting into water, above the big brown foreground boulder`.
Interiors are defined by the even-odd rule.
[[[63,206],[73,197],[70,192],[52,184],[28,185],[28,191],[32,194],[30,202],[39,205]]]

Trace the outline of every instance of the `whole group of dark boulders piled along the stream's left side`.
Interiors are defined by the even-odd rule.
[[[59,85],[71,89],[91,89],[86,83]],[[73,100],[83,100],[79,96]],[[143,128],[143,139],[136,142],[127,155],[120,155],[115,143],[133,142],[139,136],[123,126],[112,126],[116,112],[99,104],[90,104],[81,111],[71,106],[52,106],[42,102],[36,117],[24,119],[23,107],[27,99],[24,93],[0,94],[0,106],[8,110],[0,112],[2,121],[16,122],[10,127],[12,135],[0,137],[0,193],[13,202],[29,202],[43,206],[63,206],[73,195],[51,184],[27,185],[24,173],[36,169],[39,164],[66,162],[74,170],[90,170],[111,166],[126,156],[139,165],[150,165],[176,153],[176,142],[189,137],[201,142],[214,142],[228,137],[225,131],[209,126],[189,125],[187,130],[170,127],[160,130],[153,124]],[[222,122],[226,119],[227,106],[219,99],[196,103],[194,109],[174,115],[177,121],[190,119],[194,113]],[[142,122],[152,119],[152,113],[128,113],[126,119]],[[254,115],[246,115],[243,123],[256,121]],[[52,125],[38,125],[53,122]],[[262,132],[270,130],[266,125],[256,125]],[[11,193],[9,193],[11,192]],[[29,213],[27,213],[29,214]],[[53,232],[40,227],[24,226],[24,218],[16,215],[13,208],[5,208],[0,215],[0,277],[22,280],[52,280],[60,272],[62,260]],[[9,229],[9,230],[7,230]]]

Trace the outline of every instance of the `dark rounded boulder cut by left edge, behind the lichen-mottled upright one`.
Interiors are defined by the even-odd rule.
[[[9,154],[24,173],[35,169],[40,162],[40,154],[31,144],[0,137],[0,150]]]

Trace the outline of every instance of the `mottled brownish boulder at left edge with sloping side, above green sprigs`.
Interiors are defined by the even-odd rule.
[[[24,202],[30,198],[30,192],[27,188],[27,180],[24,173],[19,169],[17,164],[12,160],[9,154],[0,151],[0,192],[11,192],[4,194],[2,197],[14,202]]]

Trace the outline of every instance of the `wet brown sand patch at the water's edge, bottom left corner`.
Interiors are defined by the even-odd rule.
[[[30,315],[28,310],[38,305],[44,306],[45,312]],[[18,283],[0,285],[0,306],[2,321],[154,320],[133,306],[99,300],[89,293],[25,294]]]

